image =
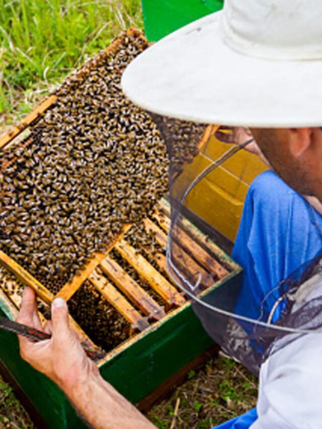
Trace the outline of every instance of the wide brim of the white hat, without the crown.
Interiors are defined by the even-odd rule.
[[[322,60],[241,54],[220,35],[220,12],[170,34],[136,57],[122,89],[138,106],[208,124],[322,125]]]

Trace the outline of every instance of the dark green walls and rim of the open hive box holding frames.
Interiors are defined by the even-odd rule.
[[[203,236],[199,230],[194,231]],[[214,248],[211,240],[206,239]],[[215,253],[227,274],[203,295],[213,294],[217,288],[229,288],[229,293],[235,295],[241,282],[241,268],[218,247]],[[0,315],[14,319],[16,314],[17,309],[0,291]],[[104,379],[135,404],[212,346],[213,341],[187,302],[113,349],[99,368]],[[37,425],[38,429],[85,427],[62,391],[21,359],[17,336],[1,329],[0,362],[28,397],[33,412],[40,414],[45,422]]]

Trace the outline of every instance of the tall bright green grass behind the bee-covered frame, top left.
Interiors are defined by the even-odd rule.
[[[140,0],[0,0],[0,115],[26,114],[132,25],[142,28]]]

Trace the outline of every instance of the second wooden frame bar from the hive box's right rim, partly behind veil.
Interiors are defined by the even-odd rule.
[[[156,241],[162,245],[167,245],[167,234],[163,232],[155,223],[153,223],[149,218],[143,220],[144,226],[147,231],[152,231],[155,233],[154,237]],[[182,249],[177,243],[172,243],[173,256],[176,261],[183,269],[188,267],[189,275],[192,274],[201,274],[202,284],[205,287],[211,287],[214,284],[214,280],[211,277],[211,272],[204,270],[184,249]],[[198,255],[195,255],[198,258]]]

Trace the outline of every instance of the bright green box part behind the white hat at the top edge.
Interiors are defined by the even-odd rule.
[[[155,42],[222,6],[223,0],[142,0],[145,35]]]

